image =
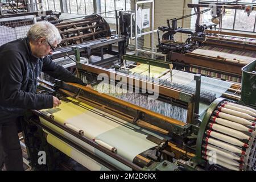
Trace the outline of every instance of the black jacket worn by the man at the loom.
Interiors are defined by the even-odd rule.
[[[0,123],[22,115],[26,109],[53,106],[51,95],[36,94],[41,71],[62,81],[83,84],[48,56],[44,59],[33,56],[28,38],[0,47]]]

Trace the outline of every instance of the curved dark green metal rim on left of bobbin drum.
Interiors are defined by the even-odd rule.
[[[193,161],[196,162],[197,164],[202,165],[205,163],[205,160],[203,159],[203,156],[202,156],[202,144],[203,144],[204,134],[205,134],[205,131],[207,130],[207,126],[213,111],[216,109],[218,104],[220,104],[222,101],[226,101],[226,99],[220,97],[214,100],[212,104],[210,104],[207,110],[207,113],[205,114],[203,121],[201,122],[199,133],[197,135],[197,140],[196,140],[196,157],[193,158]]]

